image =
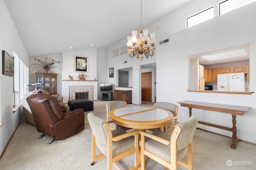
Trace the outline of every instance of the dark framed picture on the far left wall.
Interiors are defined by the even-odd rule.
[[[14,58],[6,51],[2,51],[2,74],[14,76]]]

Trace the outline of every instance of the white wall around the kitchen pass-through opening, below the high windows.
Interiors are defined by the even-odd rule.
[[[256,2],[168,36],[170,43],[158,47],[156,74],[157,82],[164,82],[166,85],[172,84],[172,88],[162,88],[157,84],[157,98],[159,99],[157,101],[177,103],[184,100],[193,100],[250,106],[251,109],[248,113],[237,116],[237,136],[238,139],[256,143],[256,132],[254,131],[256,124],[252,121],[256,119],[254,114],[256,109],[255,94],[209,94],[186,91],[188,88],[188,71],[190,70],[188,68],[188,56],[248,43],[250,44],[250,91],[254,92],[256,90],[256,78],[254,76],[256,69],[256,59],[254,57],[256,55],[255,9]],[[171,74],[176,83],[173,83],[170,78],[162,76],[163,72]],[[180,105],[178,104],[178,106]],[[192,109],[192,115],[196,115],[201,121],[232,127],[232,116],[230,114]],[[187,119],[188,108],[179,107],[178,121]],[[204,125],[198,125],[198,127],[232,136],[230,131]]]

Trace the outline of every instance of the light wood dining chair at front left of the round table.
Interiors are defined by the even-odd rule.
[[[107,157],[107,169],[112,170],[112,164],[116,161],[134,153],[134,169],[138,169],[138,135],[139,130],[126,132],[121,128],[110,130],[107,121],[96,117],[94,113],[88,113],[88,122],[92,129],[92,163],[103,157]],[[96,146],[102,154],[96,155]]]

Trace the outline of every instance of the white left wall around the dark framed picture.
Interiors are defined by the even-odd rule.
[[[28,53],[4,1],[0,0],[1,72],[2,50],[11,56],[15,53],[26,66],[29,66]],[[0,121],[4,122],[4,125],[0,127],[0,153],[2,154],[4,147],[24,116],[23,107],[13,113],[13,77],[2,75],[2,73],[0,74],[0,101]]]

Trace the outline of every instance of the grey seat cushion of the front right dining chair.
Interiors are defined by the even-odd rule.
[[[163,139],[166,139],[168,141],[171,140],[171,135],[157,131],[153,133],[153,135],[156,135],[158,137],[161,137]],[[160,143],[154,139],[145,138],[145,149],[149,152],[152,152],[153,154],[159,156],[160,158],[171,162],[171,150],[170,145],[164,145],[163,143]],[[185,147],[184,149],[177,150],[177,161],[181,160],[187,153],[188,147]]]

